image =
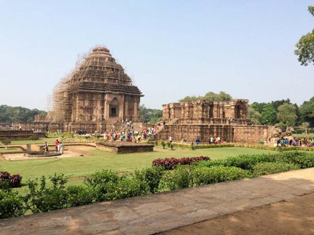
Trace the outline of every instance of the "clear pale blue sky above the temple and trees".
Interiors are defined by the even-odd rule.
[[[301,104],[314,66],[293,54],[313,1],[0,1],[0,104],[45,109],[79,53],[106,45],[161,109],[187,95]]]

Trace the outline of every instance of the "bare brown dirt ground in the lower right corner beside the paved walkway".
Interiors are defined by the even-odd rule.
[[[219,216],[160,235],[314,234],[314,193]]]

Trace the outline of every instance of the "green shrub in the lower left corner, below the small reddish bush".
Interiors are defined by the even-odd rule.
[[[23,198],[17,192],[0,189],[0,219],[21,216],[24,212]]]

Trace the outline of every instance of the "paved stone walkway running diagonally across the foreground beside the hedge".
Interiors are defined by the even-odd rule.
[[[314,168],[0,220],[5,234],[153,234],[314,191]]]

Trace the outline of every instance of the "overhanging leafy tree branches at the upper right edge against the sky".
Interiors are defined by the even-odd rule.
[[[313,6],[309,6],[308,11],[314,16]],[[314,29],[303,35],[295,46],[294,53],[299,57],[298,61],[301,65],[307,66],[309,63],[314,64]]]

